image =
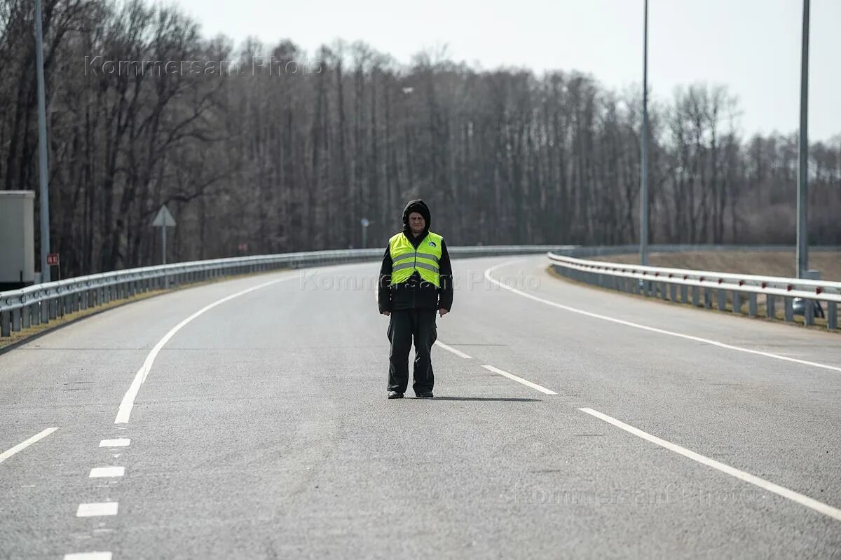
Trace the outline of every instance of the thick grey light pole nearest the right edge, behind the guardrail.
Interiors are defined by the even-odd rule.
[[[803,35],[800,64],[800,148],[797,158],[797,277],[809,268],[807,203],[809,194],[809,0],[803,0]]]

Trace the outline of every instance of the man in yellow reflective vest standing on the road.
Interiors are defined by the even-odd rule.
[[[390,315],[389,399],[402,399],[406,392],[413,338],[412,388],[418,397],[432,397],[435,313],[443,317],[452,307],[452,267],[444,238],[429,230],[430,222],[424,201],[411,200],[406,204],[403,231],[389,239],[379,269],[379,312]]]

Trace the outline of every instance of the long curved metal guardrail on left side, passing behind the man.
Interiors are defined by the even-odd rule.
[[[499,256],[540,254],[568,250],[569,246],[476,246],[450,247],[452,256]],[[138,293],[177,288],[218,277],[281,268],[315,267],[382,258],[383,249],[310,251],[267,256],[243,256],[211,261],[178,262],[159,267],[130,268],[35,284],[0,292],[0,336],[33,325],[48,324],[66,314],[98,307]]]

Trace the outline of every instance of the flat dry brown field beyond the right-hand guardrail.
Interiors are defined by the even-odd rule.
[[[638,264],[639,256],[600,256],[595,260]],[[652,253],[648,257],[652,267],[690,268],[737,274],[758,274],[759,276],[795,276],[794,251],[773,252],[687,252]],[[809,267],[821,271],[822,280],[841,281],[841,252],[812,251],[809,253]]]

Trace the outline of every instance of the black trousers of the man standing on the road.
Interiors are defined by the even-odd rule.
[[[431,348],[438,337],[435,309],[399,309],[389,318],[389,391],[406,392],[409,384],[409,351],[415,341],[415,394],[432,390]]]

